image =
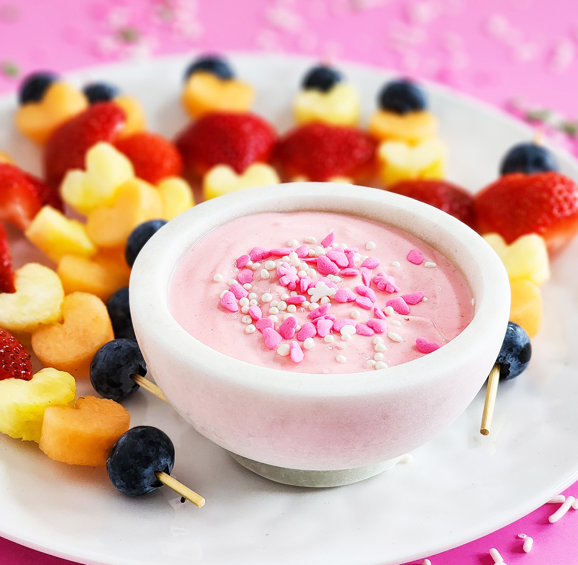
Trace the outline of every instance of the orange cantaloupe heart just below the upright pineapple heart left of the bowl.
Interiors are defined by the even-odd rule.
[[[158,190],[143,180],[129,179],[117,189],[112,205],[88,215],[86,231],[98,247],[121,246],[136,226],[162,218],[162,212]]]

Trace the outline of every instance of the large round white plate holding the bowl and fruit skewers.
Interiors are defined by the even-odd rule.
[[[186,123],[178,103],[188,56],[84,70],[82,83],[109,80],[144,103],[150,127],[173,136]],[[312,63],[284,55],[232,57],[257,87],[255,109],[280,129]],[[391,75],[343,65],[365,115]],[[483,103],[428,87],[450,146],[450,179],[472,191],[495,178],[499,160],[531,131]],[[15,98],[0,101],[0,149],[39,172],[39,151],[12,127]],[[556,151],[578,179],[578,163]],[[18,265],[27,247],[15,242]],[[176,448],[173,475],[206,497],[198,510],[163,488],[128,499],[103,469],[48,459],[34,443],[0,437],[0,533],[80,563],[123,565],[387,565],[464,544],[537,508],[578,478],[578,255],[574,241],[543,287],[544,324],[523,376],[502,383],[490,436],[480,436],[483,392],[413,462],[356,485],[308,490],[279,485],[240,467],[171,407],[141,391],[125,402],[132,425],[165,430]],[[37,254],[38,256],[38,254]],[[464,378],[468,378],[465,374]],[[88,392],[88,386],[80,388]]]

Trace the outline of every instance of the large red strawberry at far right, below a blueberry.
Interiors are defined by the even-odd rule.
[[[578,232],[578,186],[555,171],[505,174],[475,203],[480,232],[498,232],[506,243],[538,233],[555,254]]]

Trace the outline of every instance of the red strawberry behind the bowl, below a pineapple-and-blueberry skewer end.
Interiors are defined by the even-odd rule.
[[[289,178],[355,179],[372,165],[375,150],[375,140],[361,129],[312,122],[287,133],[277,145],[275,158]]]

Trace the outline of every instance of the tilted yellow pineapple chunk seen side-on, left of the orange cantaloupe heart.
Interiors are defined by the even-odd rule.
[[[97,252],[86,235],[84,224],[69,220],[51,206],[44,206],[36,214],[24,235],[55,263],[64,255],[92,257]]]

